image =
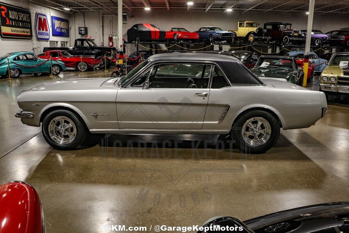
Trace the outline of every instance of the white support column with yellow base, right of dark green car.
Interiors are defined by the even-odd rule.
[[[314,16],[314,4],[315,4],[315,0],[309,0],[309,15],[308,15],[308,24],[306,28],[306,41],[305,41],[305,51],[304,51],[304,63],[303,63],[303,71],[304,71],[303,87],[306,86],[306,80],[308,77],[311,29],[313,26],[313,16]]]

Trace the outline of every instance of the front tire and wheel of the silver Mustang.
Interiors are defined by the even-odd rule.
[[[73,150],[86,137],[86,126],[80,116],[68,110],[47,114],[42,123],[46,142],[57,150]]]

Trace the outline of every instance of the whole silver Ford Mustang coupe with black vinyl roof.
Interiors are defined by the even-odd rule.
[[[231,134],[247,153],[264,153],[280,128],[315,124],[325,94],[258,78],[238,59],[212,53],[149,57],[121,78],[69,79],[18,95],[23,124],[47,143],[72,150],[91,133]]]

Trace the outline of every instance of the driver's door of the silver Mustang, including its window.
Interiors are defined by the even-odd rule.
[[[202,129],[211,70],[207,64],[173,63],[143,72],[118,91],[119,128]]]

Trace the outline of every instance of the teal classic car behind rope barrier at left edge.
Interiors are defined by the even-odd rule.
[[[18,78],[21,74],[49,74],[51,73],[50,59],[38,58],[33,52],[13,52],[0,57],[0,76],[8,76],[8,62],[11,78]],[[66,71],[64,63],[52,60],[52,74],[58,75]]]

